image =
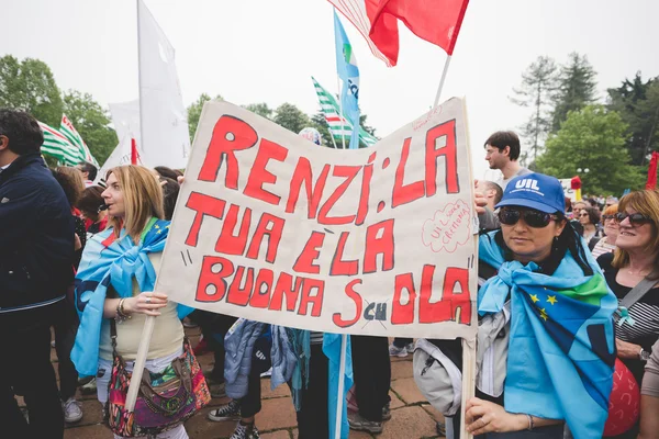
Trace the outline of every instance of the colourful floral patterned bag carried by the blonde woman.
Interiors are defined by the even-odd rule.
[[[152,373],[146,368],[142,375],[135,409],[125,409],[132,373],[116,353],[116,326],[111,322],[112,375],[108,386],[105,420],[113,434],[126,438],[155,436],[177,427],[211,401],[201,367],[190,342],[183,340],[183,353],[163,372]]]

